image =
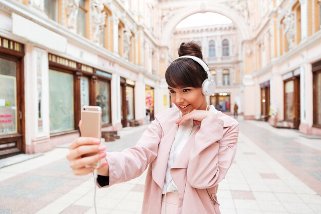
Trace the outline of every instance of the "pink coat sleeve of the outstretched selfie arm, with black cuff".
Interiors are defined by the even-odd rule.
[[[140,176],[156,157],[163,130],[155,119],[143,133],[137,144],[122,152],[107,152],[109,185],[130,181]],[[98,187],[102,187],[97,184]]]

